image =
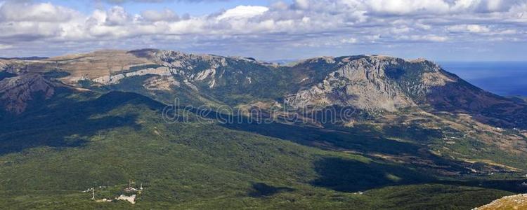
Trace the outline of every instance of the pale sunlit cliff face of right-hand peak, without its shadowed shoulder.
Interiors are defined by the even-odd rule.
[[[334,61],[332,61],[334,62]],[[386,75],[394,59],[365,57],[339,64],[323,81],[287,97],[289,105],[355,106],[367,111],[396,111],[414,106],[395,80]]]

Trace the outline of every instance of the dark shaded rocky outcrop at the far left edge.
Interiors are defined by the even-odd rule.
[[[0,103],[12,113],[22,113],[34,94],[41,92],[49,98],[55,92],[54,85],[39,74],[23,74],[0,80]]]

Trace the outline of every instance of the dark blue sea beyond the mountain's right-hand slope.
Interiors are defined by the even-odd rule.
[[[527,97],[527,62],[438,62],[483,90],[502,96]]]

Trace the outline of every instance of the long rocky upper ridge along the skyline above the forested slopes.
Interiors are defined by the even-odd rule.
[[[10,60],[0,67],[8,73],[63,73],[53,80],[76,87],[119,85],[121,80],[144,76],[148,80],[141,86],[147,91],[171,92],[174,87],[201,95],[197,100],[202,104],[237,106],[263,99],[293,108],[353,106],[370,113],[432,106],[438,111],[479,115],[486,123],[502,127],[527,127],[527,116],[521,114],[527,110],[524,104],[481,90],[426,59],[313,57],[283,66],[243,57],[142,49]],[[500,113],[493,113],[495,109]]]

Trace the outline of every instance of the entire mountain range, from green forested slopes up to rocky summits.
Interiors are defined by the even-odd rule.
[[[0,107],[0,204],[18,209],[470,209],[527,190],[527,103],[426,59],[0,59]],[[129,180],[135,204],[82,193]]]

